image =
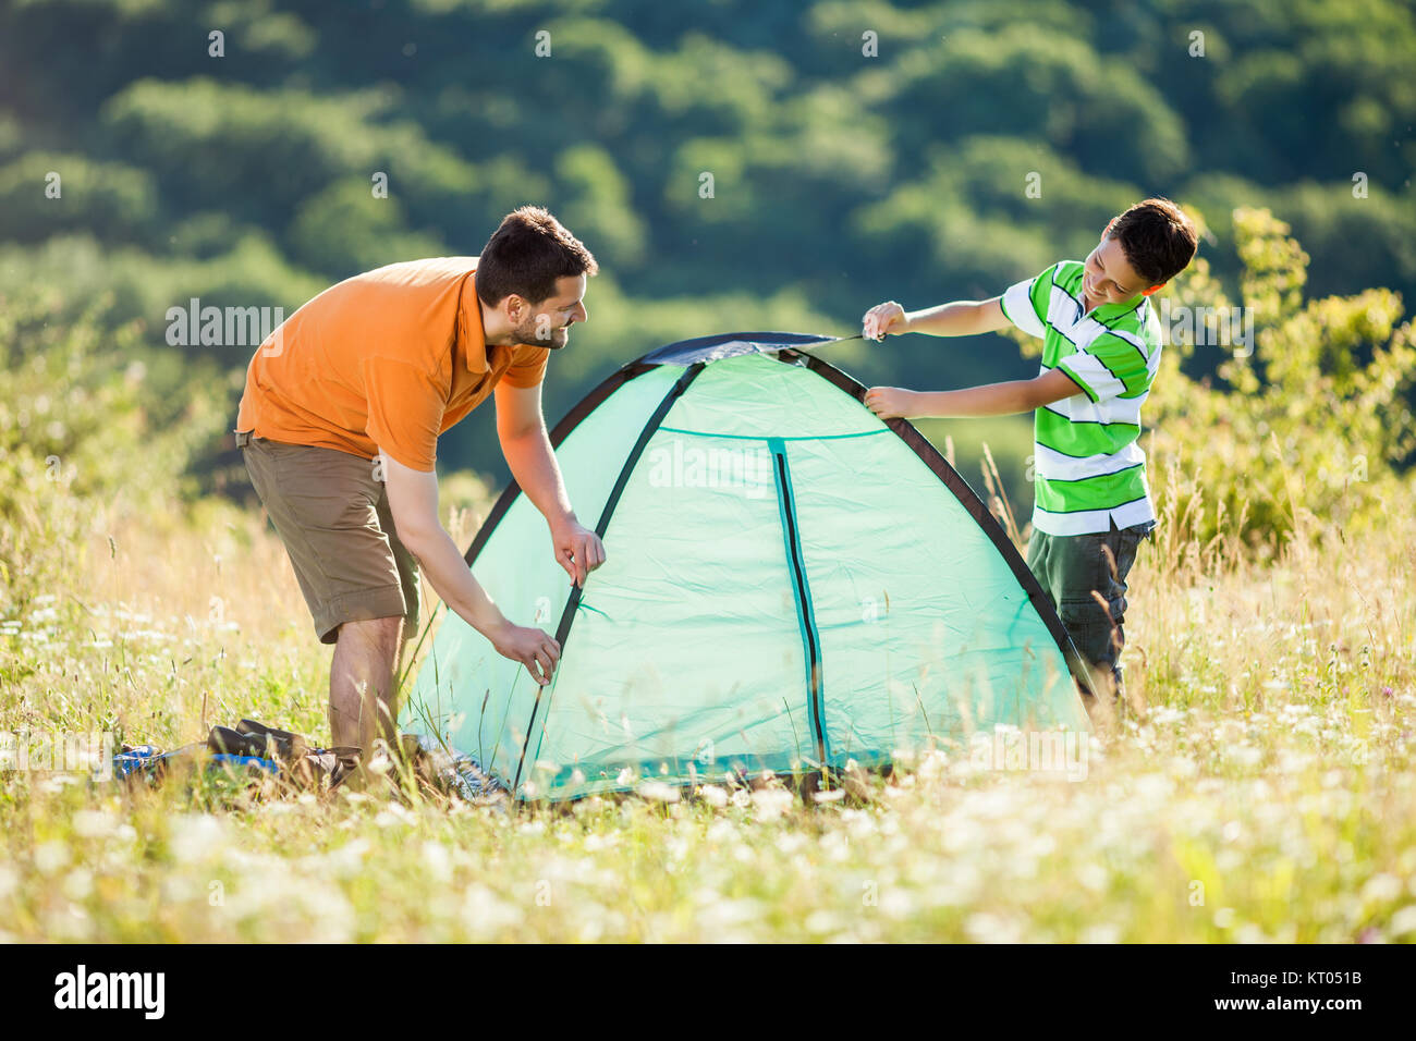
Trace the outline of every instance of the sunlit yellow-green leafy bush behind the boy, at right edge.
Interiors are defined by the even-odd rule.
[[[1366,531],[1389,501],[1409,494],[1399,467],[1416,446],[1406,397],[1416,344],[1400,296],[1368,289],[1304,300],[1308,256],[1289,225],[1267,210],[1236,210],[1233,228],[1242,310],[1204,259],[1167,305],[1177,334],[1143,442],[1158,508],[1177,540],[1209,547],[1228,537],[1272,550],[1313,517]],[[1215,346],[1197,346],[1184,323],[1208,307],[1252,320],[1253,350],[1231,341],[1215,378],[1192,378],[1182,367]]]

